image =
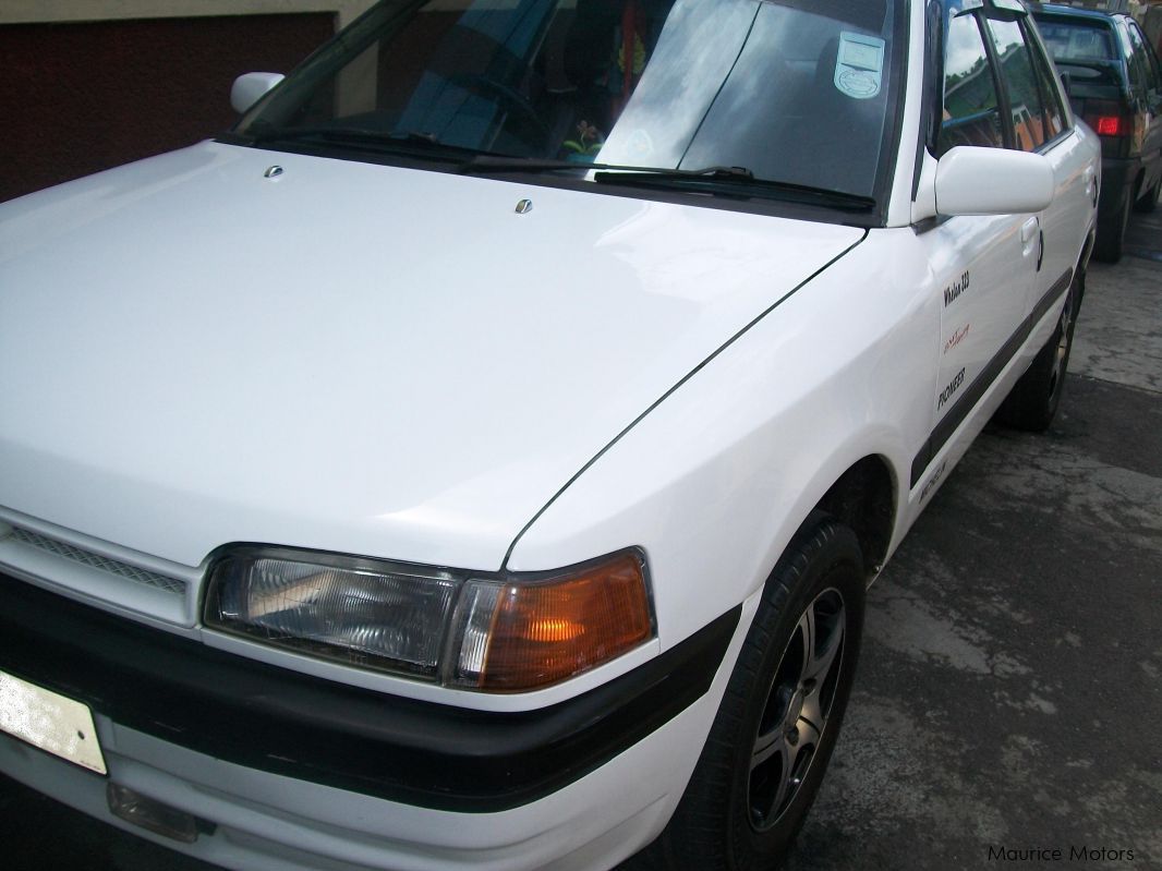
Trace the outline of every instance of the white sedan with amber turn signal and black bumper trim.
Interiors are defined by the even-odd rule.
[[[236,869],[768,866],[1061,396],[1023,3],[386,0],[232,96],[0,207],[0,770]]]

